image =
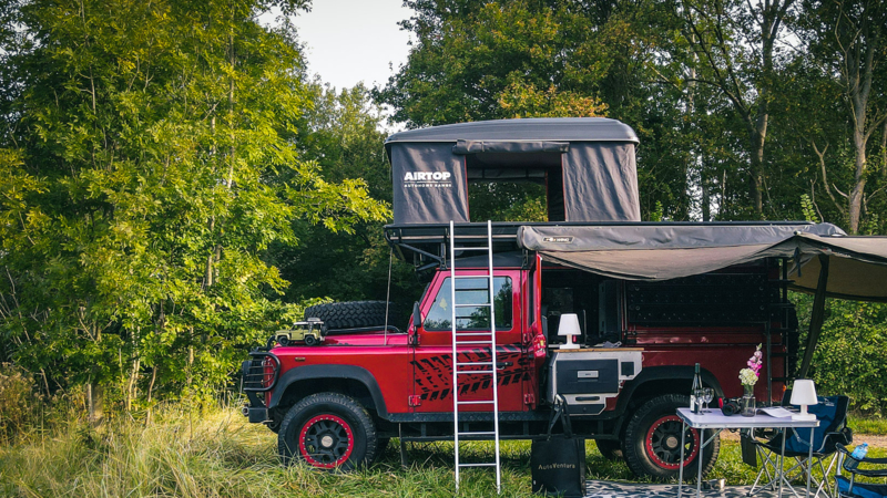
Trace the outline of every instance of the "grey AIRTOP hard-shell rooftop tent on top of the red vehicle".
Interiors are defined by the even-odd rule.
[[[470,221],[470,181],[547,186],[550,221],[639,221],[631,127],[601,117],[499,120],[396,133],[395,225]]]

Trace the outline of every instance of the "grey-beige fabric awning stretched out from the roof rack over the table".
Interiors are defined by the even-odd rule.
[[[829,258],[827,295],[887,302],[887,237],[849,237],[829,224],[524,226],[518,241],[544,260],[624,280],[670,280],[792,258],[789,288],[810,293],[822,255]]]

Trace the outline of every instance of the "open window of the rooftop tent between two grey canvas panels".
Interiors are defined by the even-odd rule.
[[[564,221],[561,153],[465,156],[472,221]]]

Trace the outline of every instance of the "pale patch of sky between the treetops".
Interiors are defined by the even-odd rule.
[[[314,0],[312,11],[294,20],[308,72],[338,90],[385,84],[389,63],[397,70],[407,61],[409,33],[397,22],[411,13],[402,0]]]

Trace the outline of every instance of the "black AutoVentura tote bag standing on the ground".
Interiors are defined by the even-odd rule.
[[[558,403],[548,426],[548,438],[533,440],[530,450],[530,468],[533,492],[585,496],[585,439],[573,437],[567,402],[558,396]],[[560,418],[563,434],[551,434]]]

